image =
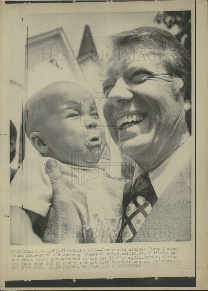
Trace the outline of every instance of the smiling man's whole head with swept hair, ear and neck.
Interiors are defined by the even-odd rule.
[[[114,141],[124,143],[121,150],[149,171],[189,134],[189,56],[171,33],[156,27],[124,31],[110,41],[104,116]]]

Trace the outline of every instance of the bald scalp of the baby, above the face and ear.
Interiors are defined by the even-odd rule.
[[[88,92],[87,92],[88,93]],[[77,96],[81,98],[86,94],[86,89],[74,82],[60,81],[50,84],[30,97],[23,110],[23,126],[28,138],[32,132],[40,131],[48,116],[57,109],[57,104],[70,95],[73,101]],[[79,98],[78,98],[79,99]]]

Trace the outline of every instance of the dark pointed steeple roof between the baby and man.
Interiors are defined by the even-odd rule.
[[[88,25],[85,25],[82,42],[79,48],[79,61],[87,61],[91,56],[97,56],[97,50]]]

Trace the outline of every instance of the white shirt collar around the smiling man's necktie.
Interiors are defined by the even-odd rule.
[[[164,189],[168,186],[168,184],[171,182],[171,180],[173,180],[173,177],[186,163],[187,159],[189,159],[189,157],[191,156],[191,152],[193,150],[192,145],[192,138],[189,137],[189,139],[174,152],[172,152],[172,154],[169,155],[167,159],[165,159],[160,165],[158,165],[156,168],[149,172],[150,181],[158,198],[160,197]],[[142,169],[138,165],[136,165],[133,183],[135,182],[136,178],[142,173]]]

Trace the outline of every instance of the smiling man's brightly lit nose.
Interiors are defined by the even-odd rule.
[[[109,93],[109,101],[111,98],[117,102],[120,102],[121,99],[131,100],[133,98],[133,93],[129,91],[129,87],[122,77],[117,79],[114,87]]]

